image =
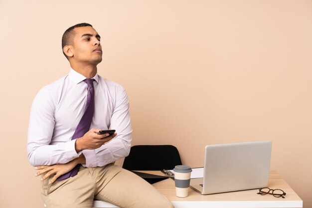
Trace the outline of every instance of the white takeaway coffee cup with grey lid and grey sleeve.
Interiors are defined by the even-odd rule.
[[[175,194],[177,197],[187,197],[192,169],[189,166],[175,166],[174,169]]]

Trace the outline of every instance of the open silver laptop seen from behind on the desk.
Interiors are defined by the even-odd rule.
[[[203,195],[267,187],[271,148],[271,141],[207,145],[204,178],[190,187]]]

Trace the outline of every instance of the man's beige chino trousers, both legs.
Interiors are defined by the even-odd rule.
[[[81,166],[76,176],[52,185],[44,180],[41,197],[47,208],[92,208],[94,199],[121,208],[173,208],[144,179],[113,164],[96,168]]]

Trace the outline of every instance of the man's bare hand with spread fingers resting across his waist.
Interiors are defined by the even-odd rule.
[[[52,184],[56,181],[58,177],[71,171],[77,164],[85,164],[85,163],[86,158],[83,154],[81,154],[78,158],[65,164],[55,164],[52,166],[37,166],[35,167],[35,169],[40,171],[38,171],[35,176],[40,176],[46,173],[41,178],[41,181],[44,181],[45,179],[49,178],[49,176],[51,176],[52,174],[55,174],[55,176],[49,182],[49,184]]]

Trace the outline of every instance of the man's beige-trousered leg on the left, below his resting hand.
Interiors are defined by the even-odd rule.
[[[74,177],[52,185],[48,185],[48,179],[44,180],[41,184],[43,202],[47,208],[92,208],[95,184],[91,175],[92,170],[81,166]]]

